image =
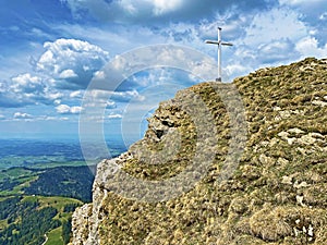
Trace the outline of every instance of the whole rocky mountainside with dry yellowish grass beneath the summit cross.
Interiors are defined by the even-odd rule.
[[[142,140],[99,163],[72,244],[327,244],[327,61],[259,70],[233,86],[244,118],[217,83],[160,103]],[[196,98],[196,110],[183,106]]]

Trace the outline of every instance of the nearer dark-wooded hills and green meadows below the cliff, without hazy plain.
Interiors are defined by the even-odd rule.
[[[90,201],[94,167],[0,171],[0,245],[64,245],[71,217]]]

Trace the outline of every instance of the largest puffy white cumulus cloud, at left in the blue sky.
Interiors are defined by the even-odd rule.
[[[94,74],[109,60],[98,46],[77,39],[57,39],[44,45],[46,51],[35,63],[37,71],[52,76],[64,89],[86,88]]]

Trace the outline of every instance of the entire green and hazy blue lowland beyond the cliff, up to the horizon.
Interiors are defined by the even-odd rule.
[[[0,245],[68,244],[73,211],[92,201],[96,164],[75,142],[0,139]]]

